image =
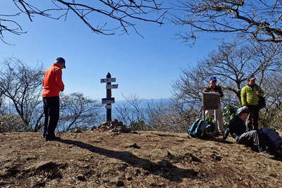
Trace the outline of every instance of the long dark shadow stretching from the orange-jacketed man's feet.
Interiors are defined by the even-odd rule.
[[[78,146],[82,149],[87,149],[93,153],[98,153],[100,155],[109,157],[109,158],[116,158],[118,160],[124,161],[133,167],[142,168],[147,170],[148,173],[152,175],[159,175],[164,177],[166,180],[171,182],[182,182],[183,178],[190,178],[190,179],[200,179],[202,177],[202,173],[199,173],[193,169],[181,169],[172,165],[167,160],[161,160],[158,163],[153,163],[144,158],[139,158],[133,153],[128,151],[111,151],[109,149],[99,148],[97,146],[92,146],[90,144],[86,144],[84,142],[69,140],[69,139],[61,139],[59,142],[64,144],[72,144]]]

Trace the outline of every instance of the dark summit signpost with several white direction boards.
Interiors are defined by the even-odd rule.
[[[101,83],[106,83],[106,98],[102,99],[102,104],[106,104],[106,121],[111,121],[111,104],[115,102],[114,97],[111,97],[111,89],[117,89],[118,84],[111,84],[111,82],[116,82],[115,77],[111,77],[108,73],[106,78],[101,79]]]

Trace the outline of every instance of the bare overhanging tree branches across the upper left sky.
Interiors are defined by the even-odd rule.
[[[166,11],[157,0],[49,0],[35,2],[30,0],[12,0],[15,13],[0,14],[0,39],[4,42],[5,32],[21,35],[24,30],[16,17],[25,15],[32,22],[36,15],[59,20],[68,16],[77,16],[82,23],[97,34],[114,35],[116,30],[128,33],[130,28],[135,32],[135,21],[162,24]],[[153,15],[157,12],[157,15]],[[101,21],[97,21],[101,19]],[[138,32],[137,32],[138,33]],[[139,34],[139,33],[138,33]]]

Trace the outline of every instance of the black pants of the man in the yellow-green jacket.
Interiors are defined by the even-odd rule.
[[[259,106],[248,105],[249,115],[247,115],[246,126],[248,130],[259,129]]]

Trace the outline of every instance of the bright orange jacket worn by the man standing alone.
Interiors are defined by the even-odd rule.
[[[62,81],[62,70],[58,63],[54,63],[45,71],[42,85],[42,97],[59,96],[60,91],[65,89]]]

